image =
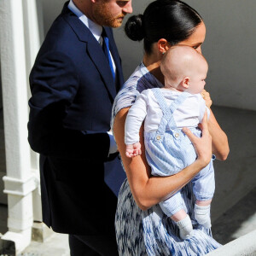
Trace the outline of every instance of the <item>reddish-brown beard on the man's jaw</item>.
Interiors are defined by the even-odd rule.
[[[113,16],[108,12],[108,6],[105,3],[97,4],[93,10],[93,16],[96,23],[101,26],[119,27],[122,25],[125,15],[119,14]]]

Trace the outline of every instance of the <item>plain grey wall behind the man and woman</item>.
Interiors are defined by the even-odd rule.
[[[44,28],[61,11],[64,0],[44,1]],[[152,1],[133,0],[134,14]],[[209,62],[207,90],[215,105],[256,110],[256,1],[184,0],[205,20],[207,38],[203,54]],[[127,19],[127,18],[126,18]],[[114,30],[122,57],[125,79],[142,60],[143,45],[125,37],[123,28]]]

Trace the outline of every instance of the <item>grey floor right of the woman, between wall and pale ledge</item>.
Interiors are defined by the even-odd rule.
[[[256,112],[224,107],[212,111],[230,143],[228,159],[214,162],[212,200],[212,235],[225,244],[256,230]]]

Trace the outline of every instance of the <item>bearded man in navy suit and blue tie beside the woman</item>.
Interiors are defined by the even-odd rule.
[[[110,27],[131,0],[65,3],[30,75],[28,140],[40,154],[44,223],[69,234],[71,255],[118,255],[114,213],[125,178],[110,129],[123,84]]]

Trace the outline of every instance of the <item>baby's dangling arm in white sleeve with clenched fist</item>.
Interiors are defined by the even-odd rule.
[[[125,120],[125,144],[126,156],[134,157],[142,154],[141,143],[139,143],[139,131],[143,120],[147,115],[147,96],[142,93],[130,108]]]

